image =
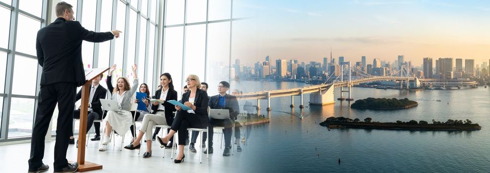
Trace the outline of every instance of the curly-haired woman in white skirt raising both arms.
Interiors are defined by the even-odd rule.
[[[106,151],[107,144],[111,142],[111,131],[114,129],[118,134],[124,135],[126,134],[129,126],[132,124],[132,116],[129,112],[131,110],[132,104],[132,95],[136,92],[138,88],[138,77],[136,76],[137,65],[134,64],[132,67],[134,80],[132,87],[129,86],[129,81],[127,78],[121,77],[118,78],[118,86],[113,87],[111,83],[112,73],[116,70],[116,65],[114,65],[109,70],[109,75],[107,77],[107,88],[109,90],[113,90],[111,99],[116,100],[119,105],[119,112],[115,111],[107,111],[107,115],[104,118],[103,123],[106,123],[106,127],[104,128],[104,137],[101,141],[101,145],[99,147],[99,151]]]

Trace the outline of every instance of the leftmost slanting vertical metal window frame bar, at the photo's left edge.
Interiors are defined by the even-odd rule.
[[[12,6],[17,7],[19,4],[19,0],[12,0]],[[12,79],[13,79],[13,66],[15,63],[15,39],[17,38],[17,19],[19,15],[19,8],[14,8],[10,11],[10,33],[8,40],[8,49],[12,51],[12,53],[7,54],[7,65],[5,72],[5,93],[12,93]],[[3,110],[2,110],[2,118],[1,118],[1,130],[0,130],[0,139],[6,140],[8,137],[8,120],[10,119],[10,107],[11,107],[12,97],[7,95],[3,98]]]

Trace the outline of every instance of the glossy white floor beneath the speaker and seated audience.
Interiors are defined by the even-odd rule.
[[[86,161],[101,164],[102,170],[92,171],[91,173],[151,173],[151,172],[178,172],[178,173],[222,173],[222,172],[237,172],[237,163],[240,163],[244,152],[235,152],[230,157],[223,157],[223,149],[220,149],[220,137],[215,133],[214,139],[214,154],[202,155],[202,164],[199,163],[198,153],[188,151],[188,146],[185,147],[184,163],[175,164],[170,158],[170,149],[161,149],[157,141],[153,141],[153,153],[151,158],[144,159],[143,153],[146,151],[146,143],[143,142],[141,153],[138,155],[137,150],[126,150],[121,147],[121,137],[117,136],[116,146],[111,142],[108,150],[105,152],[98,151],[99,142],[89,141],[86,147]],[[126,135],[124,145],[129,144],[130,134]],[[198,138],[199,139],[199,138]],[[114,142],[114,141],[113,141]],[[196,146],[200,144],[196,143]],[[45,156],[43,162],[50,166],[47,173],[52,173],[54,161],[54,141],[46,142]],[[199,151],[199,149],[198,149]],[[162,158],[163,152],[165,158]],[[0,173],[26,173],[28,169],[27,160],[29,159],[30,143],[12,144],[0,146]],[[66,158],[68,161],[75,161],[77,157],[77,148],[75,145],[68,147]],[[238,171],[243,172],[243,171]]]

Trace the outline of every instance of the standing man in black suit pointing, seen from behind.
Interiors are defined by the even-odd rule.
[[[68,164],[66,151],[72,132],[76,87],[86,83],[82,62],[82,41],[105,42],[118,38],[118,30],[96,33],[72,21],[74,12],[66,2],[55,7],[58,17],[37,33],[36,51],[39,65],[43,67],[38,107],[31,138],[29,173],[49,169],[43,164],[45,136],[58,103],[58,124],[55,143],[55,173],[72,173],[78,163]]]

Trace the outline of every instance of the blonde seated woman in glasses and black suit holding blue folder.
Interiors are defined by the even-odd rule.
[[[189,75],[185,82],[187,82],[187,87],[190,90],[182,95],[181,103],[184,103],[190,110],[184,111],[180,106],[175,106],[177,115],[169,134],[165,137],[157,137],[160,144],[166,146],[170,138],[179,131],[179,155],[174,160],[174,163],[184,161],[184,144],[185,138],[188,136],[187,128],[203,129],[209,124],[207,112],[209,97],[206,91],[198,89],[201,88],[199,78],[196,75]]]

